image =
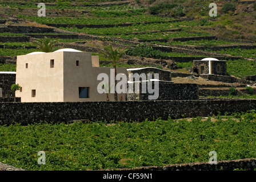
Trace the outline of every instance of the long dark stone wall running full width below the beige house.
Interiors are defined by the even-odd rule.
[[[256,109],[256,100],[5,102],[0,103],[0,125],[46,122],[151,121],[245,112]]]

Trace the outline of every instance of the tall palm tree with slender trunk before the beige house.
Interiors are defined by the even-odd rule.
[[[112,46],[106,46],[104,47],[104,52],[100,52],[107,60],[113,61],[114,78],[117,76],[117,62],[123,57],[123,55],[125,55],[126,51],[128,51],[127,48],[120,50],[120,48],[113,49]],[[117,80],[115,80],[115,85],[117,85]],[[116,89],[114,93],[114,100],[117,101]]]

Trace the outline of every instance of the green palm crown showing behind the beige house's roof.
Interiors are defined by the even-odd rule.
[[[37,46],[42,52],[53,52],[55,44],[59,42],[59,39],[45,38],[37,39],[33,44]]]

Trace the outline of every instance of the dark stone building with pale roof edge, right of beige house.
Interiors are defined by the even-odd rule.
[[[127,85],[134,85],[132,87],[133,90],[130,89],[130,86],[127,88],[127,101],[198,100],[199,98],[197,84],[175,84],[171,81],[170,71],[158,68],[134,68],[127,69],[127,73],[129,75]],[[134,78],[136,73],[139,75],[137,80]],[[144,76],[143,73],[145,73]],[[151,73],[151,77],[147,76],[149,73]],[[138,90],[135,88],[135,84],[138,84]],[[144,92],[143,84],[145,84],[144,88],[146,88]],[[150,87],[152,88],[151,90]]]

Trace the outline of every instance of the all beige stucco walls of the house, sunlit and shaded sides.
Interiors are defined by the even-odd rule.
[[[54,59],[54,68],[50,68],[51,59]],[[98,93],[101,80],[97,80],[97,76],[106,73],[110,78],[111,68],[98,67],[97,62],[98,57],[92,58],[89,52],[17,56],[16,83],[22,86],[22,92],[17,91],[16,97],[21,97],[21,102],[106,101],[106,94]],[[26,63],[29,68],[25,68]],[[117,73],[127,75],[126,68],[117,68]],[[79,98],[79,87],[89,87],[89,98]],[[36,90],[35,97],[31,97],[32,89]],[[125,100],[126,94],[118,94],[118,100],[121,96]],[[113,101],[114,94],[109,94],[109,98]]]

